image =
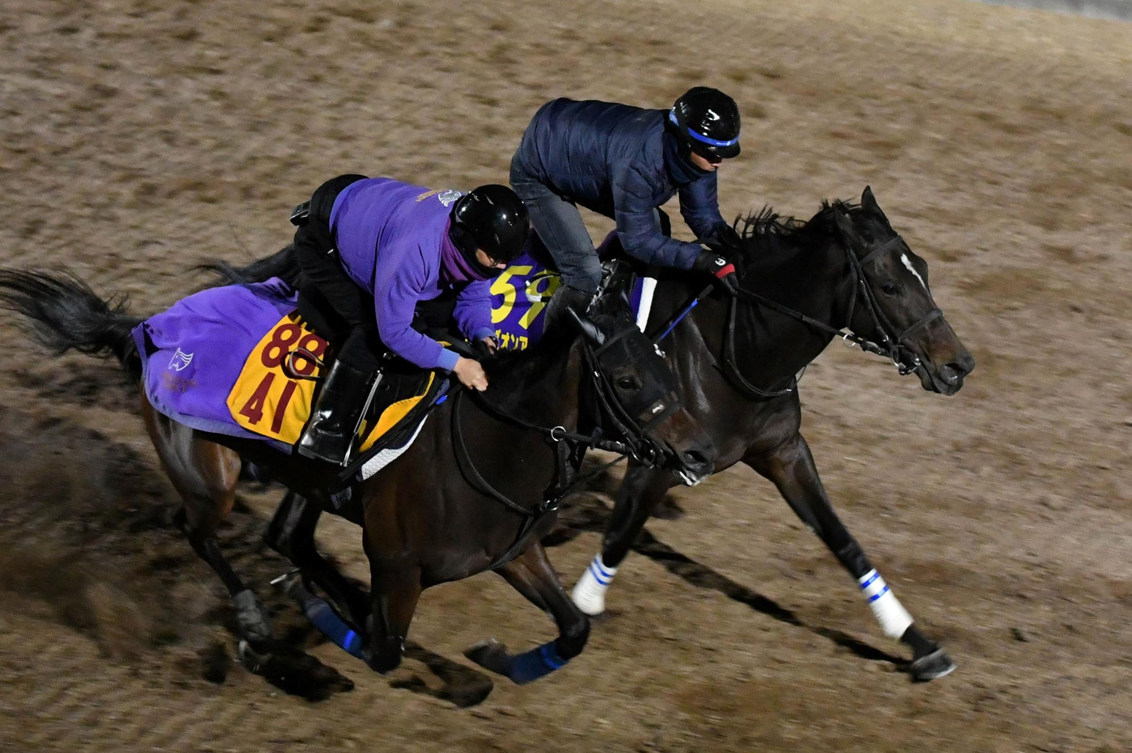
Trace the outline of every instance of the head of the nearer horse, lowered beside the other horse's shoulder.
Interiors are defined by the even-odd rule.
[[[603,428],[635,442],[638,460],[662,460],[685,484],[698,484],[711,473],[715,446],[685,410],[676,376],[637,328],[624,297],[602,296],[588,313],[568,307],[564,314],[585,343],[588,369],[597,379],[597,412],[606,413],[600,419]]]

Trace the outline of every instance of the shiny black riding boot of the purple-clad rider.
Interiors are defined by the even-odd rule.
[[[297,448],[303,457],[344,465],[366,410],[372,374],[334,361]]]

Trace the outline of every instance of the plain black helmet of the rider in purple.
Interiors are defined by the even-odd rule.
[[[456,200],[452,226],[464,241],[456,245],[465,256],[474,260],[475,249],[482,248],[495,262],[511,262],[523,251],[531,220],[515,191],[490,183]]]

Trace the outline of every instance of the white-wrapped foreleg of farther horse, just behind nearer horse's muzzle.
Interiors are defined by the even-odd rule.
[[[595,617],[606,610],[606,591],[614,582],[617,567],[625,559],[641,529],[664,494],[676,484],[664,470],[631,467],[617,491],[617,503],[602,537],[601,551],[574,585],[572,598],[578,609]]]

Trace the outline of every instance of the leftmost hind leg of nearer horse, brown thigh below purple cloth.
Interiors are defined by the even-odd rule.
[[[181,495],[178,528],[228,589],[242,636],[254,647],[265,644],[272,639],[267,610],[224,558],[216,537],[216,527],[228,517],[235,502],[239,455],[157,413],[145,397],[142,414],[161,464]]]

